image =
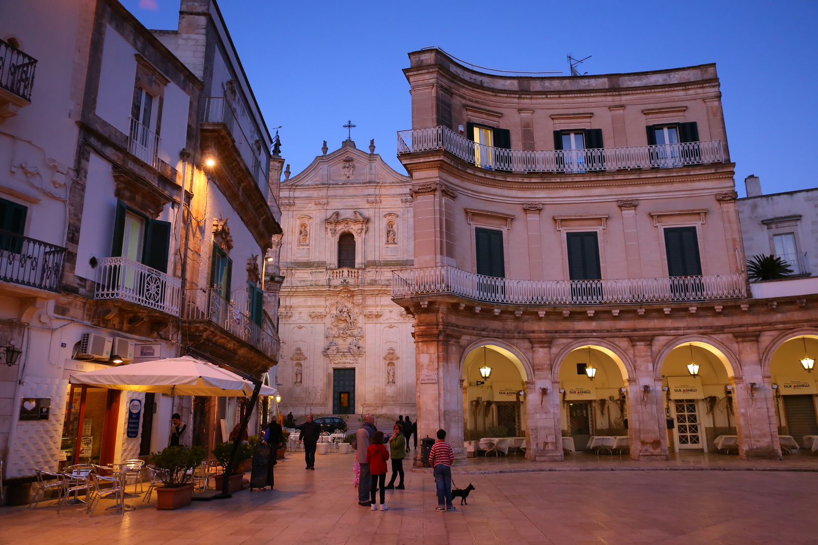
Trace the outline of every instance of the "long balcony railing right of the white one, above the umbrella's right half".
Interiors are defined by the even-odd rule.
[[[218,288],[185,290],[182,319],[209,320],[225,331],[254,346],[264,355],[278,355],[278,339],[256,324],[249,313],[247,293],[236,289],[227,301]]]

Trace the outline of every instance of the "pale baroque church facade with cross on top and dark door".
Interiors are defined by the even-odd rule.
[[[281,184],[281,412],[416,413],[412,319],[392,270],[413,265],[411,182],[346,140]]]

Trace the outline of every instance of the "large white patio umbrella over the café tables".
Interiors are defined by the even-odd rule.
[[[254,384],[206,361],[189,355],[181,358],[143,361],[74,373],[71,384],[85,384],[112,390],[152,391],[169,395],[213,395],[241,397],[253,395]],[[275,388],[261,386],[259,395],[276,395]]]

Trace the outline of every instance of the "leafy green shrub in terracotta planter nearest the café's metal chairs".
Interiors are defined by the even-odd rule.
[[[157,509],[177,509],[191,503],[195,469],[205,458],[201,447],[188,449],[185,446],[168,447],[151,456],[151,463],[162,470],[162,486],[156,489]]]

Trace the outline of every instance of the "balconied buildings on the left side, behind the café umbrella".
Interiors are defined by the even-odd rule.
[[[246,404],[70,377],[186,353],[245,377],[276,364],[283,159],[218,6],[182,0],[174,31],[115,0],[2,13],[3,476],[147,456],[175,412],[209,453]]]

